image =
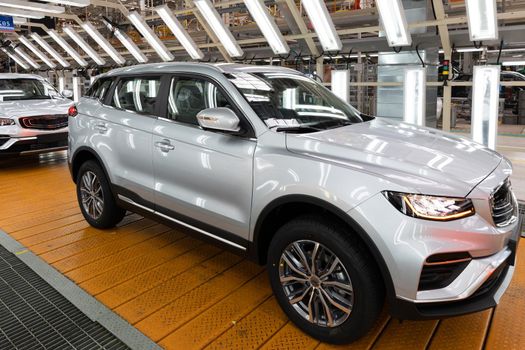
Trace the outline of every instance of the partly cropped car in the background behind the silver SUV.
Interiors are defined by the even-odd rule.
[[[70,91],[33,74],[0,74],[0,156],[67,149]]]

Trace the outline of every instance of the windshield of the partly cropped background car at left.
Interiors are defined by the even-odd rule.
[[[0,102],[48,100],[61,95],[47,81],[39,79],[0,79]]]

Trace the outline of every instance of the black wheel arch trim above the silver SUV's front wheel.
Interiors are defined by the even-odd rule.
[[[322,213],[337,219],[362,241],[381,273],[388,300],[395,299],[395,289],[388,266],[366,231],[346,212],[324,200],[307,195],[287,195],[270,202],[257,218],[253,233],[253,255],[265,264],[267,251],[278,227],[300,214]]]

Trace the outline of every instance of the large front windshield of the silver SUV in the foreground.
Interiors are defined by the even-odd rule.
[[[270,129],[313,132],[362,122],[356,109],[305,76],[233,73],[227,77]]]

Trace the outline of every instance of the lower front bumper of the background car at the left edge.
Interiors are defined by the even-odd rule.
[[[0,155],[31,154],[67,149],[67,132],[34,136],[0,136]]]

